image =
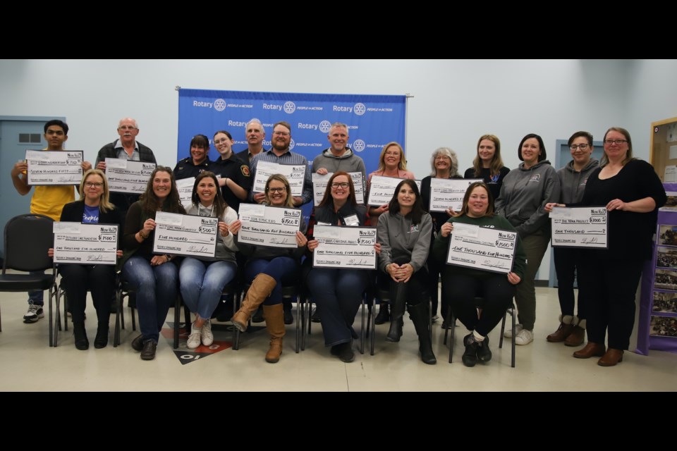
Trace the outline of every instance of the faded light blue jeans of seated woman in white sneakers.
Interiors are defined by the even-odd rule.
[[[231,261],[202,261],[185,257],[178,270],[183,302],[202,319],[209,319],[221,300],[221,292],[235,278],[238,266]]]

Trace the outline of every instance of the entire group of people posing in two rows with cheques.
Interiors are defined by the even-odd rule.
[[[47,150],[63,149],[68,125],[49,121],[45,127]],[[334,123],[329,130],[330,147],[312,161],[312,173],[331,173],[322,201],[313,209],[310,223],[301,221],[296,246],[262,247],[238,240],[241,228],[238,208],[242,202],[294,208],[313,199],[310,172],[306,171],[303,192],[293,196],[283,175],[272,175],[263,192],[252,190],[252,174],[259,161],[307,166],[307,160],[289,150],[291,125],[273,126],[268,151],[262,142],[265,130],[254,120],[245,127],[248,149],[235,154],[233,138],[225,130],[214,133],[212,142],[219,159],[209,161],[209,138],[196,135],[190,142],[190,156],[172,170],[157,166],[143,194],[109,192],[104,175],[106,158],[156,163],[152,150],[135,140],[138,124],[125,118],[118,124],[119,139],[106,144],[97,156],[96,168],[83,162],[80,200],[74,201],[73,187],[36,187],[31,212],[46,214],[55,221],[113,223],[121,228],[119,268],[123,278],[135,287],[141,335],[131,345],[142,359],[153,359],[159,331],[173,300],[181,292],[195,320],[187,346],[211,345],[211,319],[221,292],[238,273],[248,285],[240,309],[233,314],[233,326],[243,331],[252,321],[266,322],[270,346],[265,359],[278,362],[283,350],[284,326],[293,321],[291,304],[285,305],[283,286],[303,280],[317,304],[315,317],[322,323],[324,342],[331,354],[352,362],[353,321],[362,295],[372,286],[383,296],[377,323],[390,323],[386,341],[398,342],[403,335],[403,316],[408,310],[420,342],[422,362],[436,362],[429,321],[437,319],[438,304],[446,318],[450,309],[469,333],[463,339],[463,364],[474,366],[492,358],[488,335],[499,323],[513,297],[519,312],[518,345],[533,341],[535,323],[535,276],[547,249],[550,230],[548,214],[556,205],[597,206],[609,209],[609,249],[577,250],[556,248],[561,316],[559,328],[548,335],[550,342],[578,346],[588,344],[575,357],[599,356],[600,364],[620,362],[634,319],[634,292],[647,259],[652,225],[657,208],[666,202],[665,192],[647,163],[632,159],[626,130],[611,128],[604,137],[604,160],[600,166],[591,159],[592,135],[577,132],[570,138],[572,161],[559,172],[546,158],[539,135],[526,135],[518,146],[520,163],[510,171],[501,159],[501,143],[494,135],[477,142],[473,166],[458,173],[458,156],[448,147],[436,149],[431,157],[432,172],[423,178],[419,190],[415,175],[407,170],[403,149],[397,142],[386,144],[379,156],[377,171],[368,176],[365,164],[348,144],[348,127]],[[12,169],[14,185],[27,194],[25,163]],[[401,178],[390,202],[381,206],[358,204],[350,173],[362,173],[367,191],[374,175]],[[195,178],[191,204],[181,204],[177,178]],[[429,212],[431,181],[477,179],[463,197],[461,211]],[[216,253],[210,258],[154,254],[152,242],[157,211],[210,216],[219,219]],[[449,240],[455,224],[472,224],[517,233],[515,256],[508,273],[494,273],[446,264]],[[352,268],[313,268],[312,252],[322,244],[314,237],[315,225],[374,226],[377,228],[376,273]],[[621,241],[632,230],[633,242]],[[52,252],[50,250],[50,252]],[[307,257],[304,261],[304,257]],[[238,268],[240,270],[238,271]],[[85,299],[92,292],[97,309],[94,347],[105,347],[109,335],[109,314],[114,294],[112,266],[62,265],[63,284],[73,318],[75,347],[89,347],[85,332]],[[619,278],[618,274],[623,277]],[[441,297],[439,280],[441,278]],[[574,314],[573,284],[578,278],[578,314]],[[83,283],[83,280],[86,283]],[[618,281],[620,283],[611,283]],[[633,285],[634,283],[634,285]],[[375,284],[375,285],[374,285]],[[613,285],[613,286],[612,286]],[[619,288],[620,287],[620,288]],[[613,294],[612,294],[613,293]],[[42,292],[30,293],[26,322],[42,316]],[[476,297],[482,297],[480,306]],[[430,302],[430,304],[429,304]],[[432,305],[432,309],[429,307]],[[256,317],[260,316],[259,319]],[[609,350],[604,346],[609,328]],[[453,327],[444,321],[442,327]],[[508,338],[511,332],[506,332]]]

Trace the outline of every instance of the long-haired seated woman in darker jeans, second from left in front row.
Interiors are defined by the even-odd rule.
[[[166,166],[154,169],[145,192],[129,207],[123,236],[122,276],[136,287],[141,329],[132,347],[141,351],[143,360],[155,358],[160,330],[177,295],[178,267],[172,256],[153,254],[157,211],[185,214],[174,175]]]

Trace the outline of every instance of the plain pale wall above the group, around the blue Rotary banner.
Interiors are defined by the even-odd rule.
[[[554,156],[556,140],[577,130],[601,139],[612,125],[628,128],[635,154],[647,159],[650,123],[677,116],[675,80],[676,60],[1,60],[0,116],[65,116],[68,148],[85,149],[92,161],[116,138],[118,120],[132,116],[140,142],[173,165],[176,85],[408,93],[407,158],[422,177],[440,146],[455,149],[461,171],[468,168],[484,133],[499,136],[511,168],[527,133],[542,135]],[[548,262],[539,278],[547,278]]]

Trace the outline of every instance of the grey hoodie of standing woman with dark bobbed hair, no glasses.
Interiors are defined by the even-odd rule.
[[[496,199],[496,213],[515,226],[520,237],[544,230],[550,225],[545,204],[559,201],[559,177],[550,161],[543,160],[525,169],[520,163],[503,180]]]

